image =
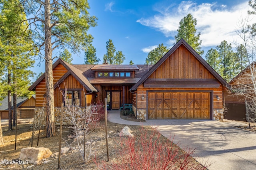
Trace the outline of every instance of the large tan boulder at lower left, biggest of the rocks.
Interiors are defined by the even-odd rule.
[[[39,164],[42,159],[49,158],[51,154],[52,151],[50,151],[48,148],[22,148],[20,151],[19,160],[28,160],[29,163],[36,165]]]

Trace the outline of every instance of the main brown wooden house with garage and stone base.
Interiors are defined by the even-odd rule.
[[[44,106],[44,77],[29,88],[36,91],[36,107]],[[80,107],[107,98],[113,110],[131,103],[138,119],[223,119],[222,89],[228,85],[183,39],[155,65],[70,65],[58,59],[53,77],[55,107],[64,96]]]

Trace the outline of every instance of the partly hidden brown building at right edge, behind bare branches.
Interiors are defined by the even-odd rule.
[[[232,79],[228,84],[230,86],[236,85],[252,85],[252,79],[250,77],[250,67],[255,71],[256,62],[248,65],[243,71],[241,71],[234,79]],[[249,76],[248,76],[249,75]],[[246,121],[246,109],[245,101],[242,95],[234,95],[230,93],[230,90],[226,88],[224,91],[224,103],[226,106],[226,113],[224,114],[224,119],[236,120],[236,121]]]

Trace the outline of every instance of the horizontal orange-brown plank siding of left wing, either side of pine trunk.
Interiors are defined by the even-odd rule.
[[[55,84],[68,70],[59,63],[53,69],[53,83]],[[44,106],[45,78],[36,86],[36,107]]]

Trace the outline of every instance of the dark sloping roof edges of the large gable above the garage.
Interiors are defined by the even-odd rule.
[[[156,69],[162,64],[164,63],[164,61],[170,56],[172,55],[172,53],[174,53],[174,51],[176,51],[176,49],[178,47],[180,47],[180,45],[184,45],[186,47],[186,49],[188,49],[188,51],[190,51],[190,53],[192,53],[196,59],[198,59],[198,61],[212,74],[214,75],[214,77],[216,77],[216,79],[218,81],[220,81],[220,83],[222,83],[222,85],[224,86],[230,86],[190,45],[188,45],[188,43],[181,39],[178,43],[176,43],[155,65],[153,65],[150,70],[136,83],[134,84],[134,86],[132,86],[132,88],[130,89],[130,91],[134,91],[138,88],[139,85],[141,85],[154,71],[156,71]]]

